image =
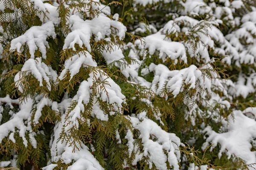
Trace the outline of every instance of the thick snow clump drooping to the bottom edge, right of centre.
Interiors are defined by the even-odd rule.
[[[140,131],[139,138],[142,139],[143,143],[143,156],[149,158],[149,167],[152,163],[158,170],[166,170],[166,161],[168,159],[169,164],[174,167],[174,170],[179,169],[178,160],[180,160],[180,152],[177,150],[180,146],[180,139],[175,136],[174,133],[167,133],[162,130],[155,122],[150,119],[143,119],[142,122],[135,117],[130,117],[134,128]],[[157,141],[153,141],[150,137],[155,136]],[[132,136],[126,137],[128,141],[132,141]],[[130,145],[130,144],[129,144]],[[131,147],[130,147],[131,150]],[[163,152],[167,151],[167,155]],[[139,155],[137,155],[140,157]]]

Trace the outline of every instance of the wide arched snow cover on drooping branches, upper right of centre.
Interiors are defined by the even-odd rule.
[[[222,23],[221,20],[198,21],[188,16],[177,17],[174,20],[170,20],[168,23],[166,23],[165,26],[161,28],[157,33],[145,37],[145,45],[138,46],[140,49],[147,48],[150,55],[153,55],[156,53],[156,51],[159,51],[158,55],[163,59],[163,61],[169,57],[172,60],[180,58],[186,63],[186,48],[190,57],[195,57],[198,59],[203,58],[205,59],[205,62],[209,62],[210,58],[208,47],[213,49],[215,48],[214,40],[223,44],[227,42],[221,31],[215,27],[220,23]],[[183,25],[187,27],[184,27]],[[209,25],[209,27],[201,29],[201,26],[204,25]],[[192,30],[189,28],[193,28],[193,32],[191,32]],[[177,36],[180,32],[184,32],[186,35],[194,35],[195,37],[199,37],[200,42],[198,47],[196,49],[193,48],[193,43],[195,43],[193,41],[188,41],[186,43],[172,42],[166,36],[166,34],[175,34],[175,36]],[[208,34],[209,36],[206,36],[205,34]],[[137,44],[140,44],[139,40],[137,40]],[[226,46],[228,45],[230,46],[229,43],[226,44]]]

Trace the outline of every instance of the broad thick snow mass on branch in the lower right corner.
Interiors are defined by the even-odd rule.
[[[241,111],[233,111],[234,119],[229,116],[229,122],[225,127],[228,131],[224,133],[216,133],[211,127],[206,127],[206,132],[209,137],[206,142],[211,142],[213,145],[211,150],[216,147],[216,144],[221,144],[221,150],[218,156],[221,157],[222,153],[226,153],[229,158],[232,154],[239,156],[245,160],[247,164],[256,162],[255,151],[251,151],[251,142],[256,137],[256,121],[250,119]],[[205,148],[202,148],[203,150]]]

